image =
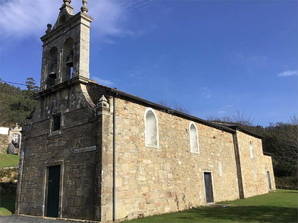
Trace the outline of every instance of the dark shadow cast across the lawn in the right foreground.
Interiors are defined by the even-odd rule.
[[[297,208],[271,206],[198,207],[129,222],[297,222]]]

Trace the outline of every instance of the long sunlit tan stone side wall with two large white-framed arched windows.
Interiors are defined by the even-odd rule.
[[[212,172],[215,202],[239,198],[232,133],[195,123],[200,152],[190,153],[191,120],[154,109],[159,148],[145,147],[147,108],[116,100],[116,219],[206,205],[205,170]]]

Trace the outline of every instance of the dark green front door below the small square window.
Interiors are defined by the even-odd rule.
[[[46,216],[58,217],[60,193],[60,165],[49,167]]]

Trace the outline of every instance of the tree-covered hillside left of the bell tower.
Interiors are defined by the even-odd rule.
[[[33,78],[27,78],[26,87],[21,89],[0,81],[0,126],[13,127],[15,123],[24,126],[36,106],[36,100],[30,97],[39,91]]]

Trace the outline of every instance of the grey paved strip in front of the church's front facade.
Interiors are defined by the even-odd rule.
[[[66,221],[29,217],[22,215],[0,216],[1,223],[65,223]]]

